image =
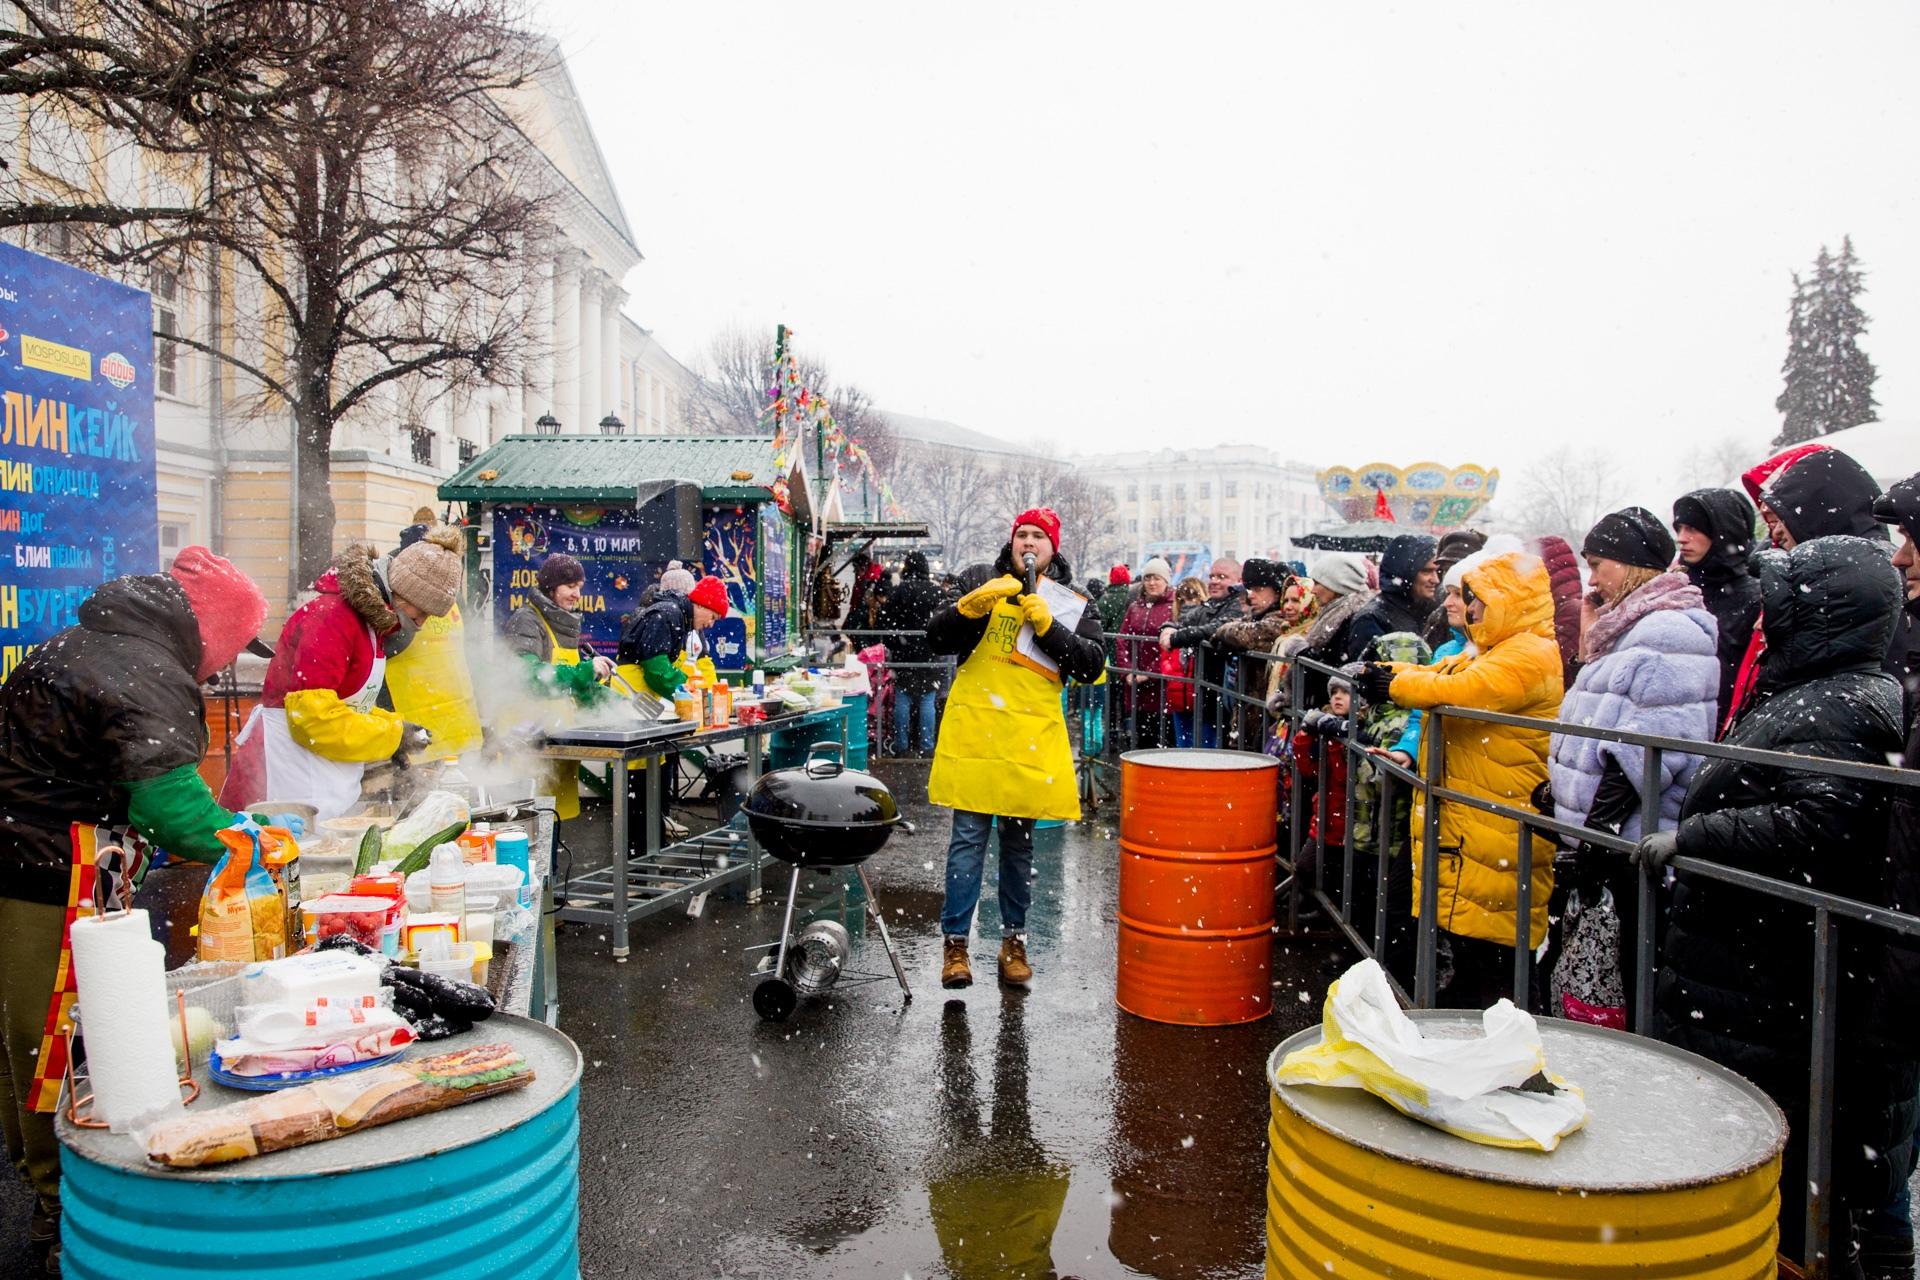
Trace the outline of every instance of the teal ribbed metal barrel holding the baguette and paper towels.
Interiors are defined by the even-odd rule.
[[[409,1055],[511,1042],[534,1082],[332,1142],[165,1171],[60,1119],[61,1274],[83,1280],[436,1280],[580,1274],[580,1052],[493,1017]],[[202,1079],[194,1111],[244,1098]]]

